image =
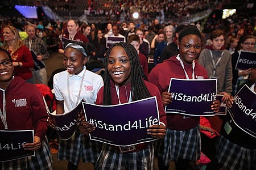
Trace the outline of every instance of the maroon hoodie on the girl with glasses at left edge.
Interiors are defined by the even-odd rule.
[[[3,93],[5,93],[5,97]],[[15,76],[6,90],[0,90],[0,108],[2,111],[3,100],[6,101],[7,130],[34,129],[35,136],[44,138],[48,128],[48,116],[43,96],[38,87]],[[2,121],[0,121],[0,130],[5,130]]]

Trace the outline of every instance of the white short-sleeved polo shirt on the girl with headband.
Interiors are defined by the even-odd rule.
[[[79,96],[80,84],[84,71],[86,72]],[[53,89],[55,91],[55,97],[59,101],[64,100],[65,113],[72,111],[72,109],[76,107],[77,97],[79,97],[79,103],[82,99],[84,99],[86,103],[94,104],[97,99],[98,91],[103,85],[104,84],[101,76],[93,73],[92,71],[85,70],[85,66],[84,70],[77,75],[69,74],[66,70],[53,76]]]

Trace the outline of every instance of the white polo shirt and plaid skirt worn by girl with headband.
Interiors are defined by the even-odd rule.
[[[64,100],[64,112],[69,112],[84,99],[87,103],[96,101],[98,90],[103,86],[100,75],[86,70],[85,66],[81,73],[69,74],[62,71],[53,76],[53,89],[57,100]],[[80,95],[79,95],[80,94]],[[78,165],[80,158],[84,163],[96,162],[101,151],[99,142],[91,141],[77,129],[72,138],[59,142],[59,160],[69,160]]]

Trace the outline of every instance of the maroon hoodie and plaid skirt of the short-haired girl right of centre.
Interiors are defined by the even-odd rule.
[[[192,65],[184,63],[184,69],[192,79]],[[195,79],[208,78],[207,70],[195,60]],[[177,56],[171,57],[156,65],[148,75],[148,80],[155,84],[160,93],[168,91],[171,78],[186,79],[183,67]],[[190,87],[188,87],[190,88]],[[183,114],[167,114],[167,133],[159,146],[159,159],[167,166],[177,159],[196,161],[200,158],[200,117],[184,117]]]

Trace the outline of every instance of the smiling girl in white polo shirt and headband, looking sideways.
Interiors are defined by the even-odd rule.
[[[53,77],[53,89],[57,100],[56,114],[72,111],[81,100],[96,101],[98,90],[103,86],[100,75],[86,70],[89,53],[83,43],[69,43],[64,50],[63,65],[67,71]],[[92,142],[79,130],[67,141],[60,140],[58,159],[68,160],[68,169],[77,169],[80,158],[83,162],[95,163],[100,153],[100,144]]]

